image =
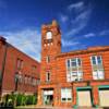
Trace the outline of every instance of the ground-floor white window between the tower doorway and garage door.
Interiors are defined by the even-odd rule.
[[[72,101],[72,89],[71,88],[61,88],[61,101],[62,102]]]

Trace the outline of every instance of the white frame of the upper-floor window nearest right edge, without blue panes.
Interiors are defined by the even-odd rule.
[[[95,57],[96,64],[93,64],[93,57]],[[104,71],[104,65],[102,69],[97,69],[97,71],[94,71],[94,65],[99,65],[97,58],[100,57],[100,61],[102,65],[102,57],[101,56],[92,56],[90,57],[90,63],[92,63],[92,71],[93,71],[93,78],[94,80],[104,80],[105,78],[105,71]],[[101,72],[100,72],[101,71]],[[100,73],[99,73],[100,72]],[[102,74],[101,74],[102,73]]]

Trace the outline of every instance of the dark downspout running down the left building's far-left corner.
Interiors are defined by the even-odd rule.
[[[2,83],[3,83],[3,74],[4,74],[4,68],[5,68],[5,61],[7,61],[7,52],[8,52],[8,44],[5,43],[5,39],[3,40],[4,45],[4,53],[3,53],[3,60],[2,60],[2,68],[0,72],[0,100],[2,97]]]

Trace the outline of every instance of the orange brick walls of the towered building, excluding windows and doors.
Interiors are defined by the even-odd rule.
[[[52,33],[52,38],[47,39],[47,33]],[[50,62],[47,63],[47,56]],[[94,80],[92,70],[92,56],[101,56],[105,80]],[[83,81],[66,81],[66,60],[73,58],[82,59]],[[46,82],[46,74],[50,71],[50,82]],[[40,85],[38,87],[38,105],[44,105],[44,89],[53,90],[53,105],[71,107],[77,105],[77,87],[90,87],[93,93],[93,104],[99,105],[98,86],[109,85],[109,46],[89,47],[85,50],[61,52],[61,33],[56,21],[51,24],[43,25],[41,28],[41,70]],[[72,102],[61,101],[61,88],[72,88]]]

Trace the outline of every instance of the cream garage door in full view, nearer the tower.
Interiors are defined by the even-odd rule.
[[[92,107],[92,100],[93,98],[90,89],[77,90],[78,107]]]

